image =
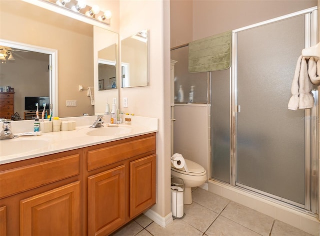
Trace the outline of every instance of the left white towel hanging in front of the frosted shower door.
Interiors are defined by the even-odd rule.
[[[290,110],[313,107],[314,98],[311,93],[312,86],[308,76],[307,60],[308,57],[302,56],[299,56],[297,60],[291,85],[292,96],[288,103]]]

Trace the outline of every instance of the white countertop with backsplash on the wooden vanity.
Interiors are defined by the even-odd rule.
[[[61,120],[74,120],[76,122],[75,130],[41,132],[40,136],[19,136],[18,138],[0,140],[0,164],[158,131],[157,118],[139,116],[130,116],[130,118],[130,125],[119,124],[118,127],[108,127],[103,124],[101,128],[89,128],[96,116],[61,118]],[[33,121],[13,121],[11,125],[14,134],[30,132],[33,128]],[[97,135],[88,135],[88,132],[97,132]],[[104,135],[104,132],[107,135]]]

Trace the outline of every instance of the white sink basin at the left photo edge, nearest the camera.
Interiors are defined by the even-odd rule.
[[[46,148],[49,144],[47,140],[37,138],[13,138],[0,141],[0,156],[8,156],[18,153],[25,153],[41,148]]]

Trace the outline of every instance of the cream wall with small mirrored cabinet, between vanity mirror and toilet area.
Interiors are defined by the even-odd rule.
[[[120,0],[120,40],[144,29],[149,33],[149,85],[122,88],[120,98],[128,98],[128,108],[121,105],[124,113],[159,120],[156,135],[156,204],[152,210],[161,217],[170,215],[171,211],[169,18],[169,1]]]

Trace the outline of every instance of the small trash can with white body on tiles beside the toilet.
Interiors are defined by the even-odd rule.
[[[183,218],[183,194],[184,183],[183,179],[172,177],[171,178],[171,212],[173,218]]]

